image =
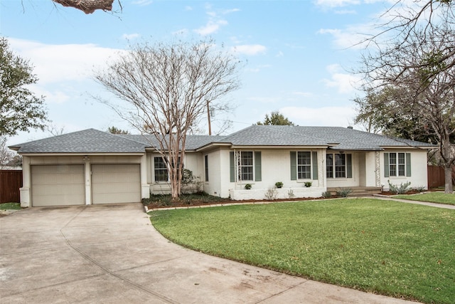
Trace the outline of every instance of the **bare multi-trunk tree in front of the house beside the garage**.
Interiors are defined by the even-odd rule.
[[[186,135],[196,127],[207,104],[239,86],[240,61],[217,51],[213,41],[147,43],[109,63],[95,75],[101,85],[126,103],[104,101],[142,134],[154,135],[156,151],[167,164],[171,194],[181,194]]]

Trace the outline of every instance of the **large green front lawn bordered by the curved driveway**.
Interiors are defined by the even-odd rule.
[[[368,292],[454,303],[455,211],[335,199],[151,212],[188,248]]]

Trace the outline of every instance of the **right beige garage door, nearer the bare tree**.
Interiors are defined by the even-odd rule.
[[[92,164],[92,203],[141,201],[139,164]]]

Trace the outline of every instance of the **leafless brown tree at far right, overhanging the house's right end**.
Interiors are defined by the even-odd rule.
[[[402,4],[411,6],[403,9]],[[402,129],[420,127],[432,132],[450,193],[455,163],[451,142],[455,134],[454,7],[453,0],[397,1],[386,13],[389,21],[384,31],[368,39],[358,71],[365,75],[367,94],[356,100],[358,120],[373,122],[368,127],[384,124],[382,112],[393,118],[392,123],[403,124]]]

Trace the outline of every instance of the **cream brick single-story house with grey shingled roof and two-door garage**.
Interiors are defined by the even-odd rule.
[[[155,147],[151,135],[94,129],[11,146],[23,156],[21,206],[139,202],[168,193]],[[339,187],[387,189],[387,181],[427,187],[432,148],[351,128],[252,125],[228,136],[188,135],[183,164],[198,177],[196,188],[212,195],[264,199],[282,182],[276,198],[319,197]]]

